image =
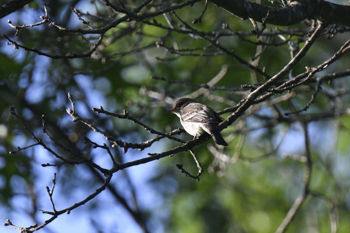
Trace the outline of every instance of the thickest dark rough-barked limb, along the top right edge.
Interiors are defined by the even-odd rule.
[[[285,8],[260,5],[246,0],[210,0],[243,20],[251,18],[262,22],[269,11],[266,23],[289,26],[306,19],[325,19],[329,24],[350,26],[350,6],[324,0],[289,0]]]

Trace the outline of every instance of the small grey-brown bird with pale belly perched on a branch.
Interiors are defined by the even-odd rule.
[[[224,118],[207,105],[198,103],[190,98],[181,98],[166,113],[176,114],[180,118],[180,122],[186,132],[194,136],[193,139],[207,132],[216,144],[229,146],[217,129],[217,126],[224,121]]]

